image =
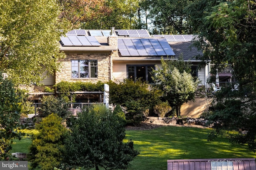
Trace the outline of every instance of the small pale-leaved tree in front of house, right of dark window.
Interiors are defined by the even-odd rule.
[[[190,67],[184,61],[161,60],[161,68],[154,70],[155,86],[162,90],[163,98],[176,108],[176,115],[180,115],[180,107],[185,102],[193,100],[198,79],[190,74]]]

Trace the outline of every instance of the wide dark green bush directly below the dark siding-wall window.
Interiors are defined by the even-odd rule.
[[[125,79],[124,82],[116,84],[109,81],[110,103],[120,104],[126,107],[126,120],[138,123],[143,118],[146,109],[153,109],[155,104],[160,102],[160,92],[140,80],[134,82]]]

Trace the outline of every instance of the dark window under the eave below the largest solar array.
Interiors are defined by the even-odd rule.
[[[152,83],[153,69],[155,69],[154,65],[127,65],[127,76],[134,81],[140,78],[142,81]]]

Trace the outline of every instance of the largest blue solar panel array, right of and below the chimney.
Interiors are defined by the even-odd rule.
[[[172,56],[175,55],[166,39],[119,38],[121,56]]]

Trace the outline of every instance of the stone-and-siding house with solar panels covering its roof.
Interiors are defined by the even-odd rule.
[[[85,30],[74,29],[60,39],[60,51],[66,54],[61,59],[61,68],[54,75],[42,81],[50,88],[61,81],[122,82],[126,78],[152,83],[150,72],[161,67],[161,59],[177,59],[192,63],[194,76],[199,86],[206,86],[211,76],[210,62],[198,69],[201,61],[196,55],[202,54],[192,47],[192,35],[150,35],[147,30]],[[40,99],[43,87],[30,86],[31,99]],[[38,93],[34,93],[38,92]],[[77,102],[98,101],[96,94],[85,94]],[[97,94],[101,95],[100,93]],[[38,100],[39,102],[39,100]],[[202,102],[199,102],[199,104]],[[205,108],[204,108],[205,109]],[[201,111],[202,112],[202,111]]]

